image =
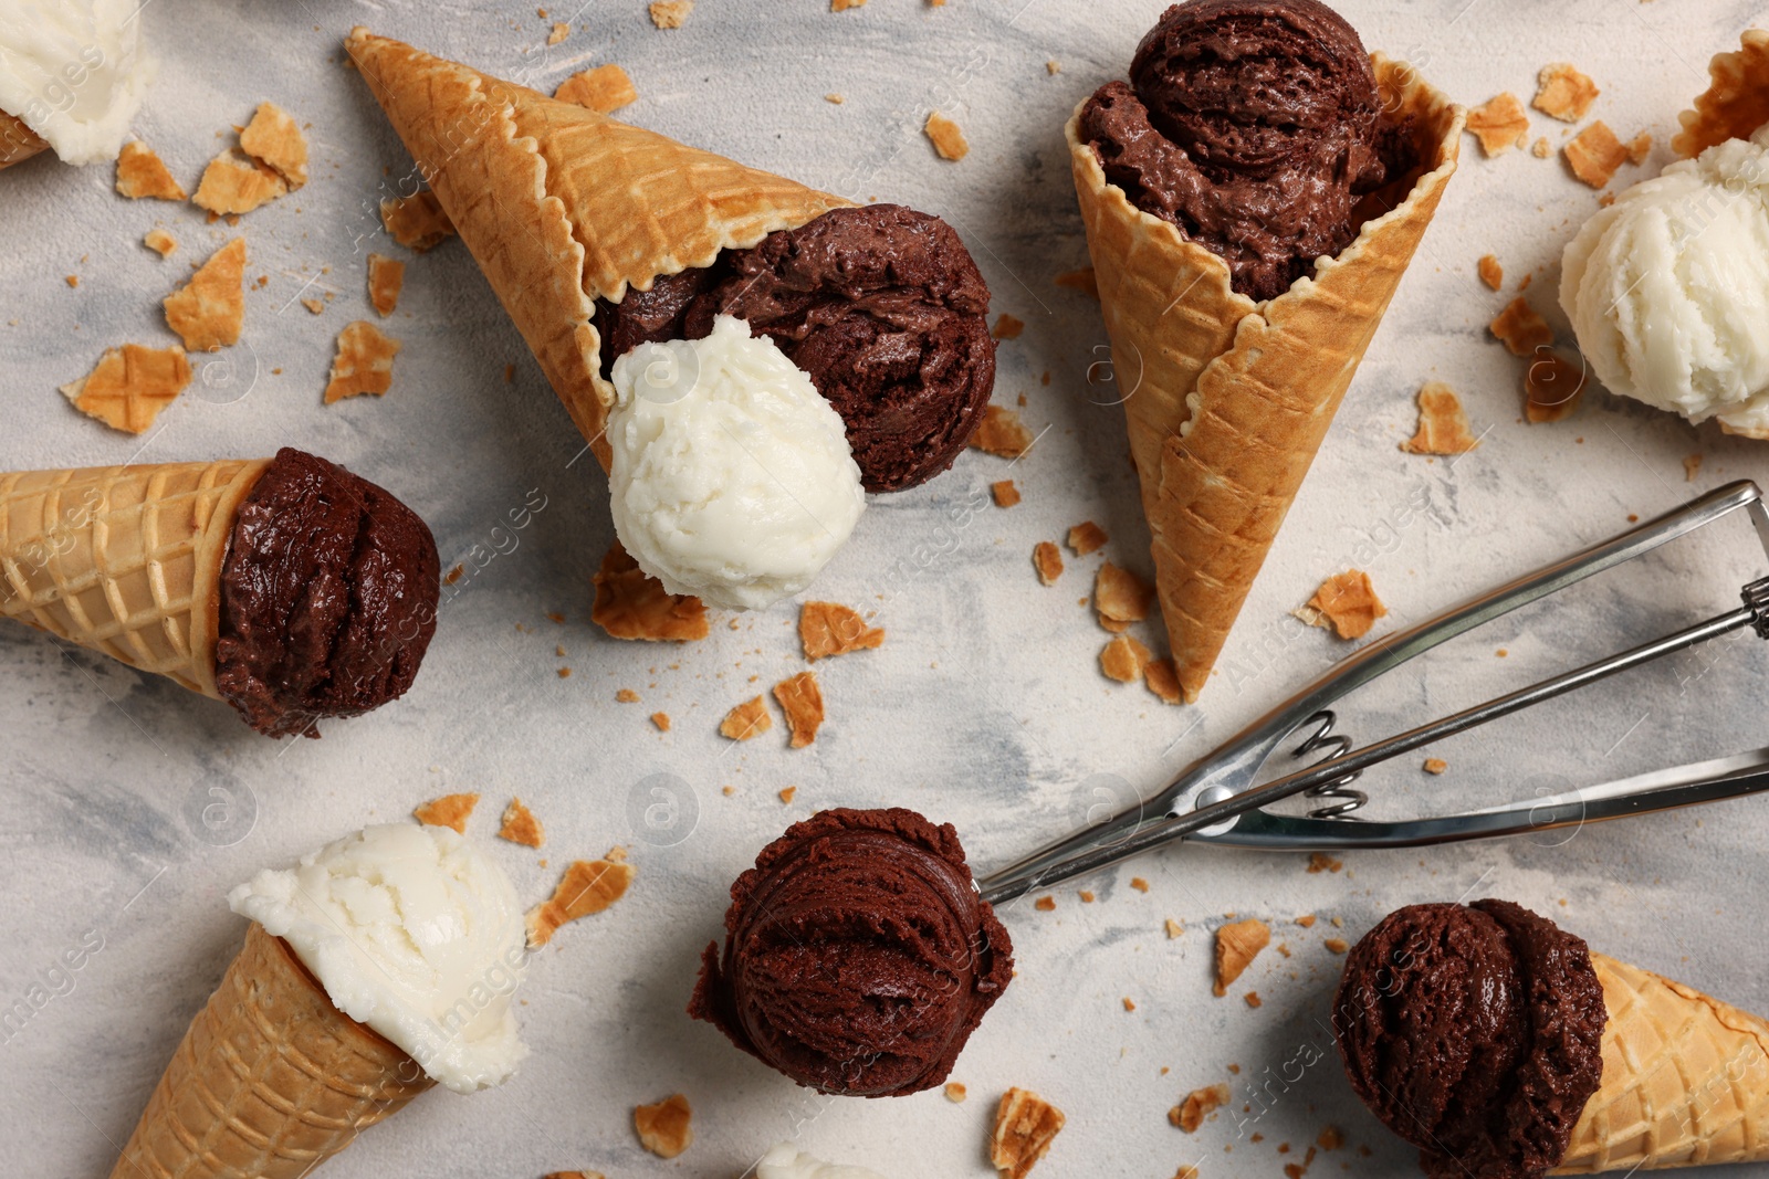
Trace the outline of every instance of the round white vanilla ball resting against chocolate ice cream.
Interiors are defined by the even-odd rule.
[[[614,362],[614,530],[672,594],[761,610],[800,592],[865,509],[840,414],[729,315]]]

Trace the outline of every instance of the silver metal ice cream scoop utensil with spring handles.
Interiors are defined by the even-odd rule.
[[[1360,749],[1332,735],[1336,721],[1330,705],[1373,679],[1392,672],[1408,659],[1449,642],[1482,622],[1491,622],[1532,601],[1558,592],[1594,573],[1603,573],[1709,525],[1737,509],[1746,509],[1757,537],[1769,555],[1769,509],[1755,483],[1737,481],[1689,500],[1658,520],[1649,520],[1608,541],[1528,573],[1507,585],[1472,597],[1459,606],[1426,619],[1419,626],[1341,661],[1323,677],[1249,725],[1228,744],[1194,762],[1176,781],[1155,797],[1129,806],[1111,818],[1065,836],[1001,871],[980,880],[991,903],[1001,903],[1031,887],[1056,884],[1114,864],[1173,840],[1201,838],[1263,848],[1307,850],[1348,847],[1406,847],[1447,843],[1543,827],[1617,818],[1672,806],[1707,802],[1769,788],[1769,751],[1744,753],[1718,762],[1645,774],[1626,781],[1573,792],[1555,799],[1528,799],[1493,811],[1470,811],[1445,818],[1405,824],[1375,824],[1348,818],[1367,801],[1348,790],[1364,769],[1419,749],[1433,741],[1475,728],[1553,696],[1583,688],[1744,628],[1769,638],[1769,578],[1746,585],[1742,605],[1705,622],[1684,628],[1631,650],[1599,659],[1573,672],[1520,688],[1442,719],[1385,737]],[[1314,734],[1300,739],[1298,734]],[[1332,749],[1332,757],[1314,765],[1260,783],[1260,771],[1279,748],[1297,742],[1304,755]],[[1343,744],[1341,744],[1343,742]],[[1295,794],[1334,799],[1307,818],[1263,813],[1265,806]]]

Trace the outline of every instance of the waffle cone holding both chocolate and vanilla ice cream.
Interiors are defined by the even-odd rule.
[[[366,28],[345,46],[603,470],[596,299],[851,203]]]

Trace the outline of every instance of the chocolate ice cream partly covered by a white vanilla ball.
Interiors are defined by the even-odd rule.
[[[596,300],[601,366],[702,339],[715,315],[770,336],[842,415],[869,491],[952,467],[994,389],[989,286],[950,224],[902,205],[833,209],[649,292]]]

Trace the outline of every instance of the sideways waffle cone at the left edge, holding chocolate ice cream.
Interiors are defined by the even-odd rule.
[[[0,474],[0,617],[216,700],[221,562],[269,460]]]

